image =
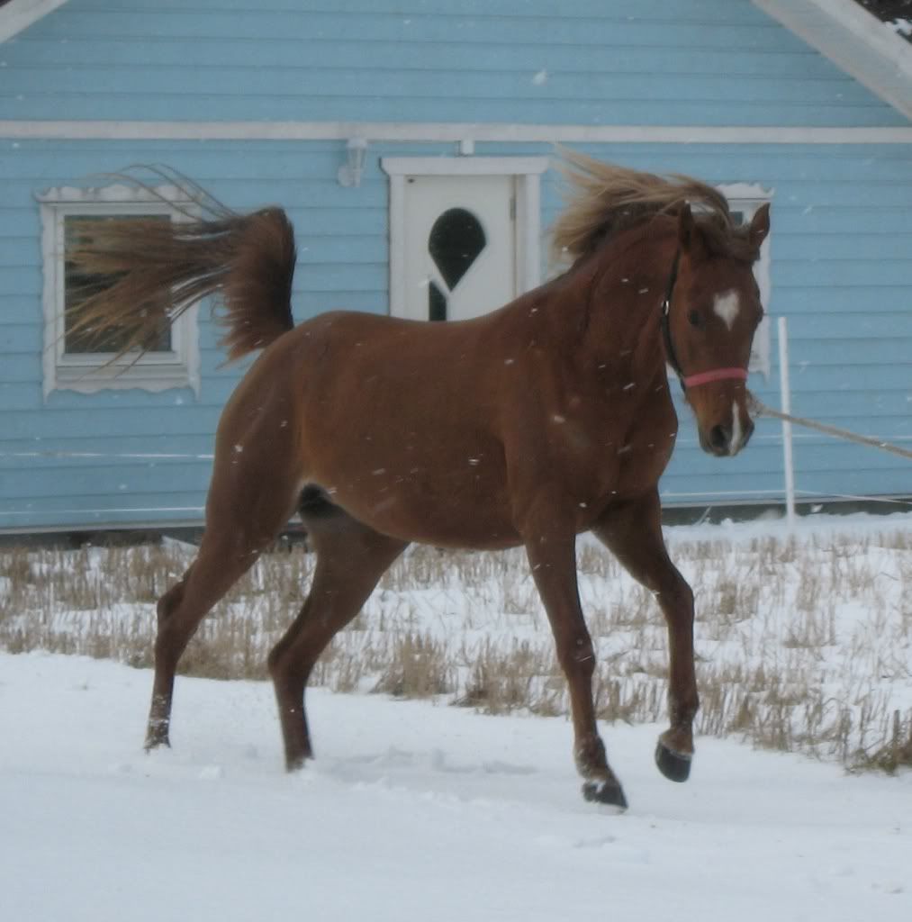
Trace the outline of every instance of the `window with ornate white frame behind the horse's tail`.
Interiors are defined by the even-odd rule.
[[[104,277],[77,273],[66,261],[77,220],[160,218],[181,220],[191,203],[173,186],[157,189],[112,185],[101,189],[53,189],[39,196],[44,263],[44,396],[54,390],[90,394],[102,389],[138,387],[161,391],[192,387],[199,393],[199,350],[196,311],[191,309],[138,357],[115,359],[122,340],[89,342],[74,331],[80,301],[109,284]],[[172,202],[174,207],[169,203]],[[67,312],[70,313],[67,313]],[[75,312],[75,313],[74,313]]]

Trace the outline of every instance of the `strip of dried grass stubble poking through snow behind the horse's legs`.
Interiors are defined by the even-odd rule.
[[[0,648],[150,665],[155,601],[193,549],[174,542],[0,549]],[[912,536],[673,541],[697,599],[697,730],[835,759],[912,766]],[[266,679],[313,558],[264,555],[204,621],[186,674]],[[599,719],[665,719],[667,637],[655,600],[582,542],[580,591],[598,650]],[[518,551],[416,548],[339,632],[313,684],[434,698],[492,715],[567,711],[547,620]],[[905,696],[905,697],[904,697]]]

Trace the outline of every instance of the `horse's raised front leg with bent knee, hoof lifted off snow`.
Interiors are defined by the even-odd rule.
[[[686,781],[693,757],[693,717],[700,706],[693,671],[693,592],[669,560],[657,491],[612,508],[592,529],[658,602],[669,627],[669,716],[656,763],[672,781]]]

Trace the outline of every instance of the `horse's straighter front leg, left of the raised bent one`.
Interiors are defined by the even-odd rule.
[[[598,803],[627,807],[621,783],[611,771],[598,736],[592,701],[596,657],[586,630],[576,585],[576,537],[572,523],[562,526],[556,502],[540,502],[538,514],[524,516],[521,533],[539,596],[548,613],[557,658],[570,689],[574,757],[585,779],[583,796]]]

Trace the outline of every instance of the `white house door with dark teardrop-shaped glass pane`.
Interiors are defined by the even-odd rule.
[[[405,315],[466,320],[513,301],[515,177],[407,176]]]

